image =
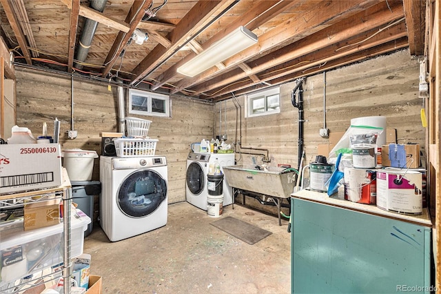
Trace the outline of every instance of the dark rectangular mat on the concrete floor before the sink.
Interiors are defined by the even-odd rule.
[[[250,245],[272,234],[270,231],[258,228],[234,217],[223,217],[210,224]]]

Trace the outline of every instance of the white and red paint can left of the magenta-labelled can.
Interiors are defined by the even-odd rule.
[[[362,204],[376,204],[376,170],[345,168],[345,199]]]

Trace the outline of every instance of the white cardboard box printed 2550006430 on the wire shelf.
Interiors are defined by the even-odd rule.
[[[59,144],[0,145],[0,194],[60,185]]]

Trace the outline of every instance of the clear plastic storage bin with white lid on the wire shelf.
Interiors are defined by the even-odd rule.
[[[81,210],[71,217],[71,256],[83,253],[84,231],[90,217]],[[22,226],[0,231],[1,282],[8,283],[63,262],[63,223],[31,231]]]

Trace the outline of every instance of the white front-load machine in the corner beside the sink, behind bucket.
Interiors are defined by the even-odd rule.
[[[234,153],[194,153],[190,152],[187,157],[187,176],[185,179],[185,199],[203,210],[207,210],[207,175],[209,164],[219,162],[220,170],[223,166],[234,166]],[[223,179],[223,206],[233,204],[232,188]]]

